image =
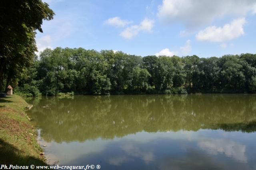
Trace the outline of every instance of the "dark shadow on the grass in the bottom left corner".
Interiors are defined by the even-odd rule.
[[[0,162],[1,164],[17,164],[19,166],[47,165],[43,160],[25,154],[13,145],[0,139]]]

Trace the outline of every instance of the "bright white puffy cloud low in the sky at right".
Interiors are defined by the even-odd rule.
[[[196,34],[196,39],[212,42],[229,41],[244,34],[243,25],[245,22],[244,18],[239,18],[233,20],[231,23],[225,24],[223,27],[206,27]]]

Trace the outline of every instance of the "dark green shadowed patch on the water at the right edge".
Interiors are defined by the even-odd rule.
[[[242,131],[242,132],[255,132],[256,121],[249,121],[243,123],[221,123],[215,124],[211,129],[222,129],[224,131]]]

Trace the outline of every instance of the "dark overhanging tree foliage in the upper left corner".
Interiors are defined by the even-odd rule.
[[[0,5],[0,92],[16,85],[37,51],[36,30],[54,12],[42,0],[6,0]]]

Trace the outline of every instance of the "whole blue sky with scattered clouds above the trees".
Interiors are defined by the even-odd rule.
[[[255,0],[45,0],[56,16],[38,50],[112,49],[132,55],[256,53]]]

